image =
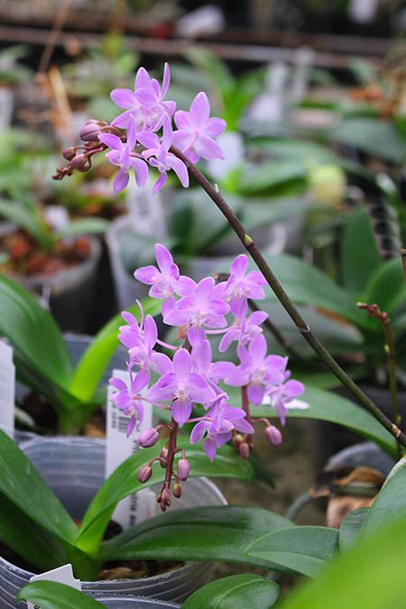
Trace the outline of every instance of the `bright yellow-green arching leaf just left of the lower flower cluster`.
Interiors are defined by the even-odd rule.
[[[140,310],[138,305],[128,309],[140,320]],[[154,299],[143,300],[143,310],[145,315],[157,315],[161,310],[161,301]],[[115,349],[119,345],[118,328],[125,322],[121,314],[116,315],[101,328],[82,355],[78,366],[73,374],[69,391],[76,395],[80,401],[91,401],[97,389],[98,383],[106,371],[106,366],[113,357]],[[125,359],[123,358],[123,366]]]

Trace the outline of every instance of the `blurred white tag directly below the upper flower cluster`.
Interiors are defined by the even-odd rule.
[[[135,180],[125,190],[126,204],[131,219],[131,226],[139,235],[165,236],[165,218],[160,192],[152,195],[153,181],[148,180],[141,189]]]

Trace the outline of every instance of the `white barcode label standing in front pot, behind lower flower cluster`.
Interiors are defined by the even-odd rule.
[[[130,375],[126,370],[114,370],[113,375],[125,383],[130,383]],[[111,394],[109,388],[108,394]],[[143,425],[137,423],[130,438],[126,437],[129,417],[118,409],[107,397],[107,429],[106,429],[106,477],[139,448],[137,439],[143,429],[152,427],[152,405],[144,403]],[[136,475],[136,472],[134,472]],[[148,488],[139,491],[129,497],[125,497],[118,503],[113,514],[113,520],[128,529],[135,523],[151,518],[156,512],[155,494]]]

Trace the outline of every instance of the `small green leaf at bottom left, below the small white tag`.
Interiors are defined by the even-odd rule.
[[[58,582],[38,581],[24,586],[18,593],[19,601],[30,601],[41,609],[102,609],[106,604],[98,603],[86,595],[65,584]]]

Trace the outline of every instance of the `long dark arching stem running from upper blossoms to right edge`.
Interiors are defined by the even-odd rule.
[[[367,395],[354,383],[354,381],[346,374],[346,372],[341,368],[339,364],[337,364],[336,360],[332,355],[328,353],[328,350],[325,346],[323,346],[318,337],[315,337],[309,328],[309,324],[306,320],[301,316],[299,309],[295,307],[289,298],[286,291],[281,286],[281,283],[275,277],[272,272],[271,267],[263,258],[263,254],[261,254],[258,247],[254,244],[253,239],[247,235],[245,232],[245,227],[241,224],[239,219],[235,216],[234,211],[226,202],[226,199],[223,198],[218,189],[214,188],[210,182],[205,178],[205,176],[198,171],[198,168],[193,165],[189,161],[189,159],[178,149],[171,147],[171,152],[176,154],[188,167],[189,175],[194,178],[198,184],[204,189],[209,198],[217,205],[217,208],[221,211],[221,213],[226,217],[228,223],[235,231],[235,234],[240,239],[241,243],[245,246],[248,254],[251,255],[254,262],[258,266],[259,270],[263,273],[264,278],[268,282],[271,287],[273,293],[277,297],[277,299],[281,302],[283,309],[286,310],[288,315],[291,317],[293,323],[296,328],[298,328],[300,334],[304,339],[309,343],[309,346],[315,351],[318,357],[328,365],[328,368],[331,370],[337,379],[346,387],[346,389],[351,392],[355,399],[359,401],[363,406],[371,412],[376,420],[378,420],[387,431],[396,438],[398,442],[401,444],[403,448],[406,448],[406,436],[401,432],[396,425],[389,420],[382,411],[374,404],[372,400],[368,398]]]

